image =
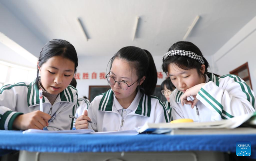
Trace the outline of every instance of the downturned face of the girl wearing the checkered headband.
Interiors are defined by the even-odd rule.
[[[205,65],[201,65],[201,72],[204,73],[204,71]],[[205,82],[204,77],[199,76],[196,69],[184,70],[173,63],[168,65],[168,74],[173,85],[183,93],[187,89]]]

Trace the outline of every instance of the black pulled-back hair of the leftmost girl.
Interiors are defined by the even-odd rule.
[[[61,39],[53,39],[47,42],[47,44],[44,45],[42,51],[40,52],[38,66],[41,67],[45,62],[47,62],[48,59],[53,56],[63,56],[64,58],[70,59],[72,62],[75,63],[74,69],[76,73],[78,58],[76,54],[76,49],[72,44],[70,44],[70,42]],[[37,70],[37,78],[35,82],[36,84],[38,84],[39,81],[38,73],[39,70]]]

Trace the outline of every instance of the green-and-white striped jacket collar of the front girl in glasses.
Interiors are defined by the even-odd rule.
[[[137,98],[137,96],[140,96],[140,91],[138,91],[135,99]],[[99,103],[99,111],[113,111],[113,98],[114,93],[111,89],[104,93]],[[151,97],[143,94],[140,97],[139,105],[134,110],[135,114],[137,115],[149,117],[151,112]]]

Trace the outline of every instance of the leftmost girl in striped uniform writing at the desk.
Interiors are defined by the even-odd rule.
[[[49,41],[38,59],[37,78],[31,83],[19,82],[0,89],[1,130],[69,130],[77,105],[77,90],[69,86],[78,58],[70,42]],[[43,89],[43,112],[39,108],[39,92]]]

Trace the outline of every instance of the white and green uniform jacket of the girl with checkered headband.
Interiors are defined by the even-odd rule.
[[[206,75],[206,84],[196,95],[199,100],[192,109],[191,105],[182,106],[183,93],[175,89],[170,96],[173,119],[193,119],[194,121],[218,121],[241,116],[255,111],[255,94],[249,86],[236,75],[217,77]],[[194,98],[188,97],[192,101]]]

